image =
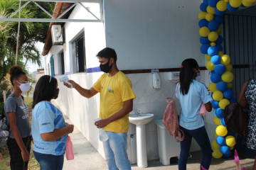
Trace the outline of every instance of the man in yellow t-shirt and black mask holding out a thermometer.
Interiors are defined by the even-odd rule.
[[[103,142],[108,169],[131,169],[127,157],[127,131],[129,128],[129,112],[132,111],[133,100],[136,98],[132,91],[132,82],[117,69],[117,54],[110,48],[98,52],[100,79],[91,89],[84,89],[75,81],[70,80],[73,87],[86,98],[100,92],[100,118],[95,122],[97,128],[104,128],[108,140]],[[65,83],[64,83],[65,84]],[[70,85],[65,84],[70,87]]]

